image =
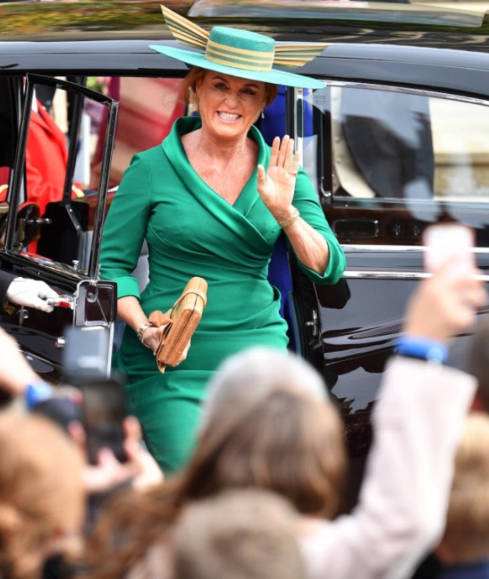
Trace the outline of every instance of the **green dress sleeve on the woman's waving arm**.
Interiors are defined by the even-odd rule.
[[[297,176],[297,182],[295,183],[293,206],[298,208],[300,211],[300,217],[302,217],[302,219],[305,220],[307,224],[316,229],[316,231],[318,231],[318,233],[326,239],[330,254],[328,266],[326,266],[326,270],[321,276],[316,271],[305,266],[300,261],[300,259],[297,258],[297,255],[295,255],[294,252],[300,269],[302,269],[302,271],[305,273],[307,278],[312,281],[312,283],[337,283],[346,267],[344,252],[335,234],[333,231],[331,231],[326,218],[324,217],[323,209],[317,200],[316,192],[314,191],[314,187],[309,180],[309,176],[302,169],[300,169]],[[293,251],[292,246],[291,250]]]

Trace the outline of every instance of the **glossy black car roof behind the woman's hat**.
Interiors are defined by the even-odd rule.
[[[243,11],[249,3],[243,0],[232,6],[221,0],[199,0],[193,7],[171,0],[166,4],[180,13],[191,8],[196,21],[206,28],[217,22],[246,25],[279,42],[318,39],[331,42],[320,57],[298,69],[312,76],[408,87],[412,84],[431,90],[452,88],[474,98],[486,92],[489,38],[485,15],[429,7],[423,10],[397,3],[288,0],[284,3],[287,9],[277,12],[280,17],[272,18],[270,13],[277,1],[283,3],[265,0],[259,3],[259,10],[254,8],[249,15]],[[353,6],[353,12],[348,12],[346,4]],[[370,11],[360,9],[359,4],[370,6]],[[333,10],[325,6],[333,6]],[[414,10],[411,20],[421,19],[424,14],[423,23],[396,21],[401,13],[409,13],[407,8],[411,7]],[[315,10],[317,17],[292,18],[298,12],[302,14],[303,8]],[[337,19],[339,15],[346,18],[346,13],[357,14],[362,10],[364,19],[370,18],[370,22],[351,20],[346,27],[344,20]],[[3,17],[6,13],[15,15],[17,24],[10,16],[6,20]],[[34,34],[33,29],[38,26],[38,21],[33,20],[34,13],[43,15],[42,22],[48,16],[52,18],[42,36]],[[225,17],[223,13],[228,15]],[[457,18],[465,24],[455,26]],[[479,26],[467,26],[470,18],[473,23],[479,22]],[[26,22],[22,34],[14,34],[19,31],[21,21]],[[321,30],[320,37],[309,34],[313,28]],[[184,64],[148,48],[149,44],[158,43],[176,45],[163,22],[159,3],[153,1],[0,4],[0,75],[31,71],[66,76],[183,76],[187,71]],[[457,73],[452,75],[455,69]]]

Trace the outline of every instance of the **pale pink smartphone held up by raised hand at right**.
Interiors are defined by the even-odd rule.
[[[462,273],[476,265],[474,229],[462,223],[437,223],[423,232],[425,270],[435,273],[449,259],[455,259],[453,272]]]

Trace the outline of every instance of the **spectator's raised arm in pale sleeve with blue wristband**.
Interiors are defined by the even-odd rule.
[[[351,578],[358,569],[363,579],[406,578],[439,541],[476,385],[430,359],[439,360],[440,349],[443,358],[451,336],[474,322],[486,300],[474,271],[453,278],[447,269],[421,282],[409,301],[409,339],[384,373],[358,506],[304,541],[314,579],[326,571]]]

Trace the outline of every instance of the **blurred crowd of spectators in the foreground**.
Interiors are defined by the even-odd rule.
[[[45,404],[26,402],[40,379],[1,332],[11,400],[0,414],[0,577],[401,579],[430,553],[442,579],[486,576],[488,323],[470,348],[474,376],[429,355],[474,326],[486,291],[475,271],[450,265],[408,303],[348,514],[338,515],[342,420],[321,376],[292,353],[252,348],[226,360],[194,455],[165,479],[133,417],[126,461],[107,450],[88,464],[82,424],[61,428]],[[410,351],[414,341],[430,348]]]

